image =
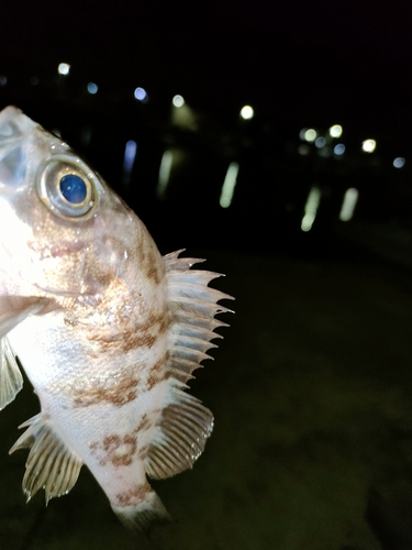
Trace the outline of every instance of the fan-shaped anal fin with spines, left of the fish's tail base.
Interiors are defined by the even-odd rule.
[[[29,428],[10,449],[31,448],[25,463],[23,492],[27,502],[40,488],[51,498],[66,495],[77,482],[81,459],[62,441],[53,428],[38,414],[19,428]]]

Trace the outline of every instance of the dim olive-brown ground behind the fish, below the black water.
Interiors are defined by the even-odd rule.
[[[202,254],[236,297],[191,384],[215,429],[192,471],[155,484],[175,522],[148,547],[386,549],[364,516],[375,487],[412,529],[412,277],[359,255]],[[26,452],[8,450],[37,410],[26,383],[0,415],[0,549],[144,548],[86,469],[69,495],[25,505]]]

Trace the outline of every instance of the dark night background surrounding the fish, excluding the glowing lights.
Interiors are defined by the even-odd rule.
[[[160,549],[412,548],[411,3],[3,3],[0,107],[13,103],[79,151],[147,224],[226,274],[231,329],[193,393],[215,415],[192,472],[156,484],[176,524]],[[68,76],[57,66],[70,64]],[[99,87],[87,91],[88,82]],[[147,102],[137,101],[142,86]],[[189,121],[171,99],[183,96]],[[240,119],[244,105],[255,117]],[[342,157],[302,128],[342,124]],[[365,139],[376,151],[361,152]],[[125,143],[137,144],[132,173]],[[337,142],[336,142],[337,143]],[[157,193],[164,153],[172,167]],[[401,169],[394,157],[405,158]],[[231,206],[219,205],[231,163]],[[301,230],[310,190],[316,217]],[[359,199],[339,220],[345,191]],[[229,317],[229,316],[226,316]],[[0,546],[135,548],[91,476],[24,506],[38,410],[26,382],[0,416]],[[4,481],[5,480],[5,481]]]

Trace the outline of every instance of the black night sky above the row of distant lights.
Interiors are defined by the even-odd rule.
[[[65,58],[85,78],[179,90],[205,108],[253,102],[264,117],[407,135],[411,12],[400,0],[15,1],[0,61],[35,72]]]

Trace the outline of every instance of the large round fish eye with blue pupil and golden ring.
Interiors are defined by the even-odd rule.
[[[76,155],[54,155],[37,170],[36,189],[42,202],[65,219],[88,218],[96,207],[100,183]]]

